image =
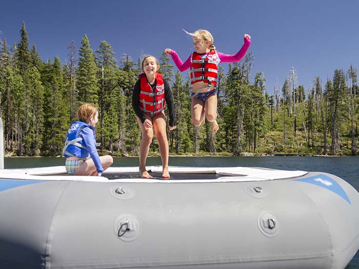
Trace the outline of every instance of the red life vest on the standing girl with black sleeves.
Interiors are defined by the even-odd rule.
[[[161,113],[165,109],[165,84],[162,74],[156,73],[155,89],[152,89],[145,74],[141,74],[139,77],[141,77],[139,108],[151,116]]]

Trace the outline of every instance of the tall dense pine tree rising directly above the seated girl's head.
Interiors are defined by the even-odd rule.
[[[84,34],[81,48],[78,51],[78,69],[76,72],[78,101],[98,103],[98,79],[95,56],[90,49],[89,39]]]

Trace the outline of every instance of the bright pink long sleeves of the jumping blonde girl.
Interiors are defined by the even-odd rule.
[[[217,51],[218,57],[220,57],[220,60],[223,61],[223,63],[234,63],[235,61],[239,61],[246,54],[250,44],[251,44],[251,39],[245,37],[242,48],[236,54],[229,55]],[[192,54],[189,55],[188,59],[184,63],[182,62],[181,58],[179,58],[178,54],[174,50],[171,50],[170,55],[179,71],[183,72],[191,67]]]

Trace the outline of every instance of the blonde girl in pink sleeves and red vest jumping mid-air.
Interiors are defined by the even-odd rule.
[[[215,50],[213,37],[207,30],[197,30],[188,33],[193,37],[193,52],[183,63],[174,50],[166,49],[178,70],[183,72],[190,68],[190,82],[192,88],[191,116],[195,126],[205,122],[205,118],[212,123],[212,133],[218,131],[217,118],[217,71],[220,61],[233,63],[239,61],[246,54],[251,43],[250,36],[244,35],[244,45],[236,54],[228,55]]]

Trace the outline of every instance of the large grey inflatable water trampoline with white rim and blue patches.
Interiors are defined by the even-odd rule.
[[[0,170],[0,268],[345,268],[359,248],[359,194],[334,175],[169,170]]]

